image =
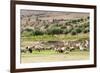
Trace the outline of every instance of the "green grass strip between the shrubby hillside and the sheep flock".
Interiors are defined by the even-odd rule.
[[[21,41],[61,41],[61,40],[82,40],[88,39],[89,34],[78,34],[78,35],[38,35],[30,37],[21,37]]]

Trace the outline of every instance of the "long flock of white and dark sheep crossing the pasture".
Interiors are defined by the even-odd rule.
[[[32,53],[33,50],[41,52],[43,50],[54,50],[57,53],[66,53],[68,54],[69,52],[79,49],[80,51],[83,50],[89,50],[89,41],[84,40],[84,41],[63,41],[63,43],[59,44],[54,44],[49,47],[43,47],[42,45],[34,45],[34,46],[27,46],[25,49],[21,49],[21,52],[30,52]]]

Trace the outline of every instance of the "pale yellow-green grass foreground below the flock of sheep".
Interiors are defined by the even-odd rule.
[[[22,53],[21,63],[34,62],[56,62],[56,61],[72,61],[72,60],[87,60],[89,59],[89,51],[73,51],[69,54],[57,53],[53,50],[33,51],[32,54]]]

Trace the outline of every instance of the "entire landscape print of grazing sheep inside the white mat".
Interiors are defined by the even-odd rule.
[[[89,13],[21,10],[21,63],[89,59]]]

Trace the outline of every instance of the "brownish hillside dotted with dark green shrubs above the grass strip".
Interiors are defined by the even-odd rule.
[[[89,32],[89,13],[21,10],[22,36],[72,32]]]

